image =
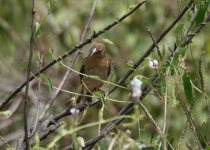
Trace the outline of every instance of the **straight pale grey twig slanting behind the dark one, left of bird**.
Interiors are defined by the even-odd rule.
[[[80,40],[80,43],[79,43],[79,44],[81,44],[82,42],[84,42],[84,39],[85,39],[85,37],[86,37],[86,35],[87,35],[87,32],[88,32],[88,28],[89,28],[90,23],[91,23],[91,20],[92,20],[92,18],[93,18],[94,11],[95,11],[95,9],[96,9],[96,4],[97,4],[97,2],[98,2],[98,0],[95,0],[95,1],[93,2],[93,6],[92,6],[92,9],[91,9],[90,15],[89,15],[89,17],[88,17],[88,21],[87,21],[87,23],[86,23],[86,25],[85,25],[85,28],[84,28],[84,31],[83,31],[83,33],[82,33],[81,40]],[[79,52],[79,49],[78,49],[78,50],[76,51],[76,53],[74,54],[74,56],[73,56],[73,60],[72,60],[72,62],[70,63],[69,68],[72,68],[72,67],[74,66],[74,64],[75,64],[76,61],[77,61],[77,58],[79,57],[79,54],[80,54],[80,52]],[[39,120],[42,120],[42,119],[44,118],[44,116],[46,115],[46,113],[48,112],[48,110],[50,109],[50,107],[52,106],[52,104],[54,103],[56,97],[57,97],[58,94],[60,93],[60,89],[62,89],[63,85],[64,85],[65,82],[67,81],[67,79],[68,79],[69,75],[71,74],[71,72],[72,72],[72,71],[71,71],[70,69],[68,69],[68,70],[66,71],[66,73],[65,73],[65,75],[64,75],[64,77],[63,77],[63,79],[61,80],[61,83],[60,83],[59,86],[58,86],[58,89],[57,89],[57,90],[55,91],[55,93],[53,94],[52,99],[47,103],[47,105],[46,105],[46,107],[45,107],[43,113],[41,114]]]

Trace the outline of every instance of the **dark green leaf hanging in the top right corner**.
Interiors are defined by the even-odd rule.
[[[200,0],[198,15],[196,17],[196,25],[203,22],[210,0]]]

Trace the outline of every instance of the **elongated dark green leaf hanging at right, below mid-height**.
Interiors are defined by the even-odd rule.
[[[182,76],[182,80],[183,80],[185,97],[187,101],[190,104],[192,104],[193,103],[193,89],[192,89],[192,84],[190,82],[190,76],[187,74],[187,72],[185,72],[184,75]]]

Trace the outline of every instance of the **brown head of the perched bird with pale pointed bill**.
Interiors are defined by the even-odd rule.
[[[91,46],[89,56],[104,56],[106,51],[106,47],[103,43],[94,42]]]

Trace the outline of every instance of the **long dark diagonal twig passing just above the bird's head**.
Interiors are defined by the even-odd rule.
[[[68,57],[69,55],[73,54],[76,50],[82,48],[83,46],[87,45],[88,43],[91,43],[91,41],[95,38],[97,38],[99,35],[105,33],[106,31],[110,30],[111,28],[113,28],[114,26],[116,26],[118,23],[122,22],[124,19],[126,19],[128,16],[130,16],[132,13],[134,13],[140,6],[142,6],[147,0],[144,0],[142,2],[139,2],[137,5],[135,5],[131,10],[129,10],[126,14],[124,14],[122,17],[120,17],[119,19],[116,19],[113,23],[109,24],[108,26],[106,26],[104,29],[98,31],[98,32],[94,32],[93,35],[90,38],[87,38],[84,42],[82,42],[81,44],[76,45],[75,47],[73,47],[71,50],[65,52],[64,55],[58,57],[57,59],[54,59],[53,61],[51,61],[49,64],[47,64],[46,66],[44,66],[42,69],[40,69],[39,71],[37,71],[34,75],[35,76],[31,76],[29,78],[29,81],[32,81],[35,77],[39,76],[42,72],[44,72],[45,70],[47,70],[48,68],[50,68],[51,66],[53,66],[54,64],[56,64],[57,62],[65,59],[66,57]],[[18,94],[25,86],[26,86],[26,81],[23,82],[21,85],[19,85],[19,87],[13,91],[13,93],[11,95],[9,95],[9,97],[7,99],[5,99],[1,105],[0,105],[0,110],[2,110],[6,104],[8,104],[11,99]]]

